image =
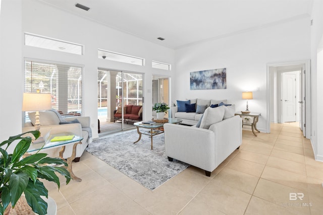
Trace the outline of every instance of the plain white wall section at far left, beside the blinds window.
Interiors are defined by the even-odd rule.
[[[2,1],[1,3],[0,142],[21,132],[23,95],[21,1]]]

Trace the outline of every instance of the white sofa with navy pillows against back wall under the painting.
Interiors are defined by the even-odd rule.
[[[216,104],[220,104],[221,102],[223,103],[227,103],[227,100],[215,100],[215,99],[186,99],[190,100],[190,104],[196,104],[195,105],[195,109],[197,112],[179,112],[178,111],[178,106],[175,107],[171,107],[171,116],[172,118],[178,118],[182,120],[182,124],[186,124],[186,125],[196,125],[198,120],[201,118],[202,116],[202,112],[198,111],[198,106],[203,106],[206,105],[207,107],[209,107],[210,105],[216,105]],[[178,105],[178,103],[177,103]]]

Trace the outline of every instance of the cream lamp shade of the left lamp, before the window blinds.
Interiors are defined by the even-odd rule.
[[[39,111],[51,109],[49,93],[24,93],[22,111]]]

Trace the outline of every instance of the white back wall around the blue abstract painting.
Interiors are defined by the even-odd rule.
[[[260,112],[257,128],[266,130],[266,64],[310,58],[309,18],[260,28],[176,50],[173,101],[185,98],[228,99],[244,110],[242,91],[254,91],[249,110]],[[227,68],[227,89],[190,90],[191,71]],[[259,91],[255,90],[259,88]],[[269,110],[268,110],[269,111]]]

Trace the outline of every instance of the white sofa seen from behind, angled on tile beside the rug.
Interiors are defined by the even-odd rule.
[[[164,129],[169,161],[176,159],[198,167],[205,170],[206,176],[210,176],[242,143],[239,116],[220,120],[208,129],[171,123],[166,123]]]

